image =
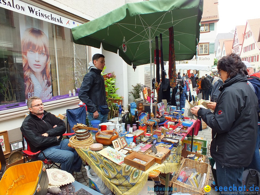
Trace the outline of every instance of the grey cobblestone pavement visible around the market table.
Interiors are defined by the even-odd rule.
[[[206,162],[209,163],[208,157],[211,157],[210,156],[210,144],[211,144],[211,141],[212,141],[212,139],[211,139],[211,128],[207,126],[206,129],[199,131],[197,136],[203,137],[208,141]],[[81,172],[77,172],[77,173],[74,172],[74,178],[79,183],[89,187],[89,179],[88,179],[88,176],[87,176],[87,170],[83,165],[82,165],[82,168],[81,168]],[[210,170],[209,185],[211,185],[212,181],[213,181],[213,177],[212,177],[212,173],[211,173],[211,170]],[[213,195],[213,194],[218,194],[218,193],[215,192],[214,190],[211,190],[209,192],[209,195]]]

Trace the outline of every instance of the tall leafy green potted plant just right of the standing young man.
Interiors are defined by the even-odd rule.
[[[119,102],[121,101],[122,103],[123,100],[123,97],[117,94],[117,90],[119,88],[115,88],[115,82],[116,82],[115,77],[105,79],[107,104],[110,109],[108,119],[117,116]]]

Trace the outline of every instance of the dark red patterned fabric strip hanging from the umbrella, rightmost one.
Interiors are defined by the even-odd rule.
[[[173,27],[169,28],[169,70],[168,75],[170,79],[170,86],[176,86],[176,64],[175,64],[175,50],[174,50],[174,37]]]

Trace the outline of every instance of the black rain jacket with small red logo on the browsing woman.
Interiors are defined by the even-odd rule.
[[[211,157],[226,167],[246,167],[252,161],[257,137],[256,94],[242,74],[227,79],[219,88],[214,113],[198,110],[212,128]]]

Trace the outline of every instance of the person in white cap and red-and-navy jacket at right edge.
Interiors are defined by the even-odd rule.
[[[260,155],[259,155],[259,147],[260,147],[260,117],[259,117],[259,112],[260,112],[260,73],[254,73],[254,68],[251,66],[251,64],[247,61],[242,61],[245,66],[247,73],[249,75],[248,81],[252,84],[254,87],[255,94],[258,98],[258,129],[257,129],[257,138],[256,138],[256,148],[255,148],[255,153],[253,156],[253,159],[248,167],[245,168],[252,168],[257,171],[260,171]]]

